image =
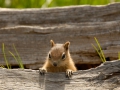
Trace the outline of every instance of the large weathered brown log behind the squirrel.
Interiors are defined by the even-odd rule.
[[[0,64],[5,65],[2,43],[11,65],[16,65],[14,43],[26,68],[38,69],[50,49],[49,41],[70,41],[76,64],[100,64],[91,46],[99,40],[107,60],[120,51],[120,3],[50,9],[0,9]],[[16,54],[15,54],[16,55]]]

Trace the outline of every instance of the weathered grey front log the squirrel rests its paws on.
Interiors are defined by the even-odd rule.
[[[74,72],[71,79],[65,73],[40,76],[38,70],[1,68],[0,90],[120,90],[120,60]]]

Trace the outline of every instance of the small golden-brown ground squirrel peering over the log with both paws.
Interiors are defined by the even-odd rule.
[[[46,72],[66,72],[66,77],[70,78],[74,71],[77,71],[74,62],[69,53],[70,42],[65,44],[55,44],[50,41],[51,50],[49,51],[46,62],[42,68],[39,68],[41,75]]]

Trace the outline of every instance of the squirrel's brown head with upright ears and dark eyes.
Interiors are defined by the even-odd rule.
[[[69,45],[70,42],[66,42],[65,44],[55,44],[53,40],[50,41],[51,50],[48,53],[49,62],[55,66],[65,66],[69,57]]]

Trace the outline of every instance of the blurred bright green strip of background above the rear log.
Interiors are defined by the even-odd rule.
[[[70,5],[105,5],[120,0],[0,0],[3,8],[48,8]]]

